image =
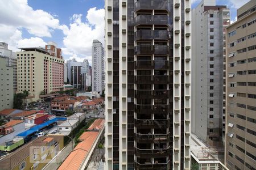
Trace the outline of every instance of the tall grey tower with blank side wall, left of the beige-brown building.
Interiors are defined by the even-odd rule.
[[[229,20],[229,9],[215,0],[203,0],[192,10],[192,132],[211,146],[220,145],[225,134],[224,31]]]

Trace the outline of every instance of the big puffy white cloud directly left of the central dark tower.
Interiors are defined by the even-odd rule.
[[[63,55],[72,53],[73,55],[90,59],[88,56],[92,55],[93,40],[98,39],[104,43],[104,15],[104,9],[97,10],[96,7],[88,10],[85,22],[82,22],[82,14],[74,14],[70,19],[71,24],[69,24],[69,27],[61,27],[65,35],[63,39],[63,44],[65,45]]]

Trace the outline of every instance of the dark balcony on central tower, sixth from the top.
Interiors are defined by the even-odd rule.
[[[134,82],[136,84],[168,84],[170,75],[135,75]]]

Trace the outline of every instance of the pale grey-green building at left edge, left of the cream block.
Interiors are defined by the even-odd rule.
[[[0,111],[13,108],[13,67],[0,56]]]

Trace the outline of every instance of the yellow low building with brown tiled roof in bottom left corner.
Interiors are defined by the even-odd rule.
[[[43,169],[63,147],[63,135],[36,138],[1,159],[0,169]]]

